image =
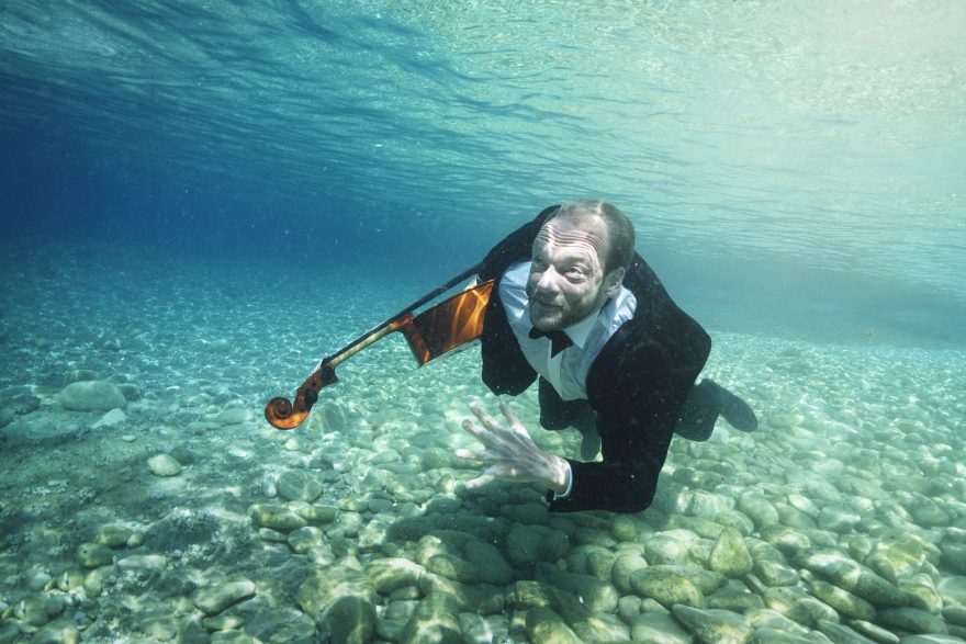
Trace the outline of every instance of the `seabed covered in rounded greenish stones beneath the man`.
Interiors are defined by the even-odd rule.
[[[639,515],[467,492],[469,353],[405,377],[361,368],[288,433],[215,386],[8,391],[5,459],[46,470],[3,487],[0,644],[966,642],[956,371],[720,350],[748,371],[711,365],[718,380],[762,383],[762,427],[675,439]],[[535,427],[535,396],[513,404]],[[14,442],[45,423],[67,428],[53,452]],[[532,433],[579,451],[575,432]]]

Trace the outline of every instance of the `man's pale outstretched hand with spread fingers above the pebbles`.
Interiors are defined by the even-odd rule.
[[[555,493],[562,493],[570,483],[570,464],[560,456],[544,452],[533,443],[527,428],[510,411],[506,403],[499,403],[499,410],[509,427],[501,425],[486,414],[479,403],[470,403],[470,410],[480,420],[463,421],[463,429],[484,445],[482,451],[457,450],[457,456],[490,463],[482,475],[467,483],[473,489],[486,485],[495,478],[520,483],[539,483]]]

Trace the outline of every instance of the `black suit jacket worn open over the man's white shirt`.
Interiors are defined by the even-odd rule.
[[[506,319],[498,280],[530,258],[533,238],[560,206],[551,206],[496,245],[480,276],[496,279],[483,321],[483,382],[516,396],[537,379]],[[603,462],[570,461],[573,489],[550,509],[637,512],[654,497],[674,426],[711,350],[708,334],[677,307],[637,253],[624,285],[637,297],[633,317],[607,341],[587,373],[587,402],[597,413]]]

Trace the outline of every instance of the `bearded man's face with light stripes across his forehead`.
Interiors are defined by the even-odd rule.
[[[533,240],[527,297],[530,321],[555,331],[595,314],[616,293],[624,269],[604,273],[607,225],[598,217],[548,222]]]

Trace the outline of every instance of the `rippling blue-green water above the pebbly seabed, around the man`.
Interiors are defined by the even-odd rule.
[[[404,302],[543,206],[603,196],[711,327],[966,339],[956,2],[0,15],[13,244],[263,261],[291,292],[390,272]]]

